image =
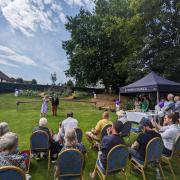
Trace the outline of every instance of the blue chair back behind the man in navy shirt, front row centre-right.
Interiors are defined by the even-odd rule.
[[[120,171],[125,168],[129,152],[125,145],[113,147],[107,156],[106,174]]]

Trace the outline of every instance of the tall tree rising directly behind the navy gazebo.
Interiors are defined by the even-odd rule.
[[[129,53],[116,69],[128,69],[127,81],[151,70],[180,81],[179,1],[131,0],[130,9],[132,16],[124,28]]]

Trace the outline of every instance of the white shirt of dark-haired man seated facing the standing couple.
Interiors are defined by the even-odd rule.
[[[68,117],[62,122],[62,133],[65,134],[67,129],[74,129],[78,127],[78,121],[72,117]]]

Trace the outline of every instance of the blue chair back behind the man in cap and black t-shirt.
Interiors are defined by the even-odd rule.
[[[153,138],[146,146],[146,155],[144,165],[150,162],[159,161],[164,148],[163,141],[160,137]]]

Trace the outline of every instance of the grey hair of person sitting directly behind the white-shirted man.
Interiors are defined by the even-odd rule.
[[[67,129],[64,136],[65,146],[74,146],[77,144],[77,135],[75,129]]]

